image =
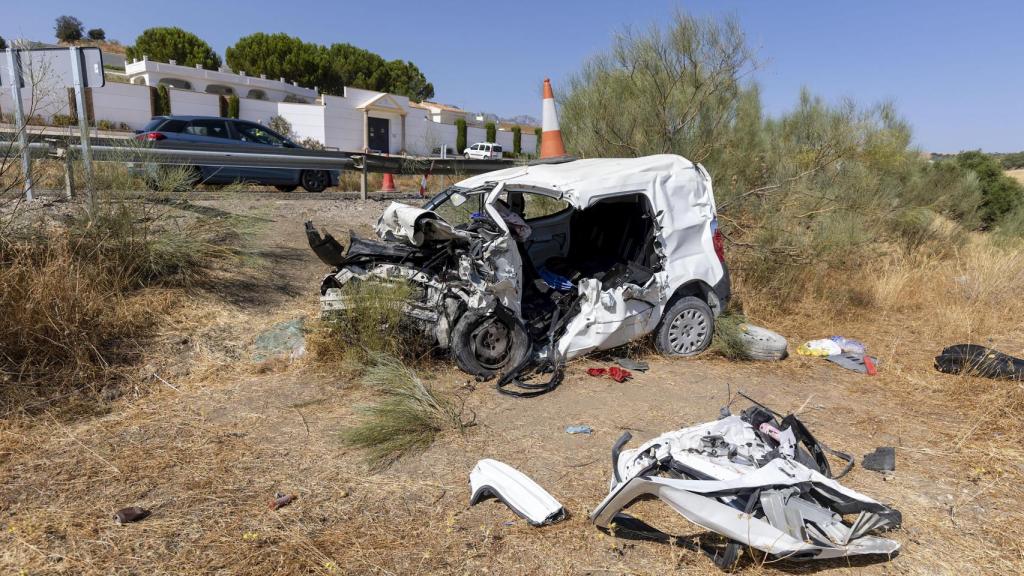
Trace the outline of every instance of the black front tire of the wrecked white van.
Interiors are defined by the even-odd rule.
[[[467,312],[452,331],[452,356],[467,374],[490,378],[519,364],[529,348],[529,336],[519,323],[510,325],[495,314]]]

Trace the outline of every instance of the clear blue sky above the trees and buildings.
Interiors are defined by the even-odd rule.
[[[7,3],[0,36],[50,40],[67,13],[125,43],[179,26],[223,54],[241,36],[285,32],[411,59],[439,101],[540,116],[546,76],[557,91],[616,32],[664,23],[676,7],[739,18],[763,63],[756,79],[769,114],[807,86],[834,101],[894,100],[928,151],[1024,150],[1024,2],[1014,0],[36,0]]]

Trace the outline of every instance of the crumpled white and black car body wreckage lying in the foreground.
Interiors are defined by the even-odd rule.
[[[777,417],[761,405],[740,415],[725,411],[622,451],[627,433],[612,448],[611,489],[591,521],[622,530],[637,522],[622,510],[655,496],[729,540],[724,549],[705,547],[723,569],[733,568],[744,547],[801,561],[897,552],[898,542],[872,533],[898,527],[900,512],[837,482],[852,458],[818,442],[794,415]],[[826,453],[849,465],[834,477]]]

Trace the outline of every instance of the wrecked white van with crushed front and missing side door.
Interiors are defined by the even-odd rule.
[[[711,176],[674,155],[488,172],[423,207],[391,204],[376,230],[381,241],[353,236],[343,254],[307,222],[335,266],[324,314],[346,306],[349,282],[407,280],[407,316],[517,396],[557,385],[565,360],[649,333],[663,354],[698,354],[729,299]],[[527,382],[534,372],[550,380]]]

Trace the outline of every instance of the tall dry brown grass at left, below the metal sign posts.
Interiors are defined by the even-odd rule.
[[[237,222],[104,196],[15,204],[0,232],[4,412],[123,380],[166,310],[157,287],[193,286],[238,256]],[[144,290],[150,289],[150,290]]]

